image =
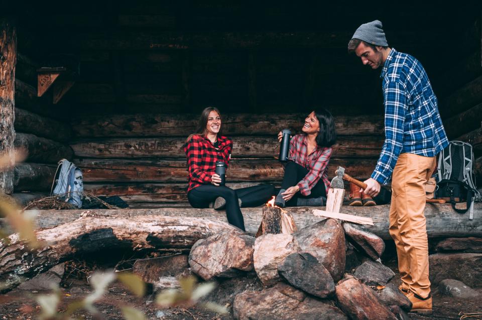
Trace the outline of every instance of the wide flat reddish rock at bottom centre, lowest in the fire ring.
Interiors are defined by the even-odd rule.
[[[309,297],[284,283],[262,291],[246,291],[236,295],[233,317],[238,320],[348,319],[331,301]]]

